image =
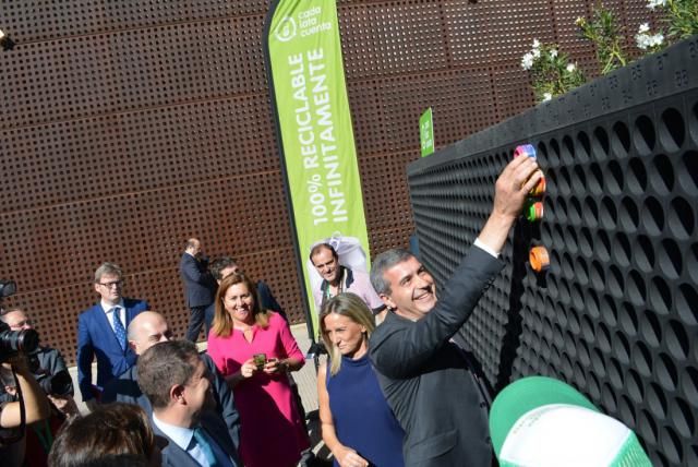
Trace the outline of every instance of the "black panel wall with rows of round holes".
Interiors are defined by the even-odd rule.
[[[410,165],[423,261],[443,286],[517,144],[545,172],[466,325],[489,380],[577,386],[653,465],[698,465],[698,36]],[[551,258],[527,265],[531,246]]]

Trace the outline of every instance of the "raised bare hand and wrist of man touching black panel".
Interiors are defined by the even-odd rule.
[[[542,177],[532,157],[519,156],[507,164],[494,185],[494,206],[478,237],[481,242],[497,253],[502,251],[528,193]]]

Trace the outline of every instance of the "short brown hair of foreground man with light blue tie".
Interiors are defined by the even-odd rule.
[[[159,343],[139,357],[139,386],[154,409],[168,406],[170,390],[189,383],[197,361],[196,345],[189,340]]]

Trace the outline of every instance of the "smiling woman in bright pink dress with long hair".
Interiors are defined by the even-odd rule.
[[[303,354],[286,321],[258,303],[246,276],[231,274],[220,283],[208,355],[233,390],[244,465],[294,466],[310,442],[286,373],[303,366]]]

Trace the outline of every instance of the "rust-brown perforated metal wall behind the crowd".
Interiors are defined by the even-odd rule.
[[[406,246],[405,166],[434,108],[446,145],[532,105],[533,37],[582,64],[593,1],[339,1],[372,253]],[[607,2],[629,31],[643,0]],[[262,57],[264,0],[0,2],[0,277],[69,361],[106,260],[177,334],[182,243],[233,254],[304,319]]]

